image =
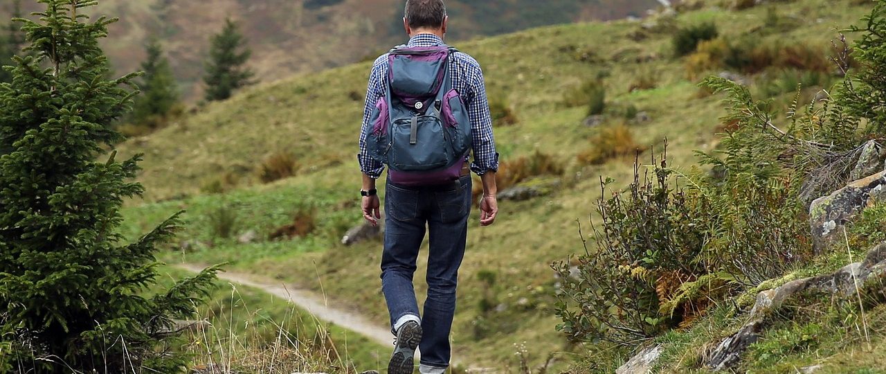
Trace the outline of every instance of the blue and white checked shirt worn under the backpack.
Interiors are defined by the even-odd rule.
[[[442,45],[443,40],[437,35],[419,34],[409,39],[408,47],[431,47]],[[366,106],[363,110],[363,127],[360,136],[361,171],[372,178],[378,178],[385,166],[372,160],[366,152],[366,137],[369,134],[369,116],[375,109],[380,97],[385,96],[388,89],[388,55],[385,53],[376,59],[369,74],[369,88],[366,90]],[[449,74],[452,76],[452,87],[458,90],[462,100],[468,106],[470,129],[473,137],[474,162],[470,169],[478,175],[487,171],[498,170],[498,153],[495,152],[493,138],[493,121],[489,114],[489,102],[486,98],[486,83],[483,82],[483,71],[476,59],[465,53],[457,52],[449,58]]]

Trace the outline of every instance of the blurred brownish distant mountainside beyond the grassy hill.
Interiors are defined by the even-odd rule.
[[[6,3],[6,2],[4,2]],[[27,11],[39,9],[24,1]],[[105,0],[102,14],[120,17],[105,51],[119,72],[137,69],[150,35],[162,41],[185,97],[199,94],[210,35],[237,19],[253,49],[251,65],[264,82],[299,72],[344,66],[403,42],[402,0]],[[497,35],[591,19],[642,16],[656,0],[495,0],[447,2],[452,40]],[[9,9],[0,9],[8,18]]]

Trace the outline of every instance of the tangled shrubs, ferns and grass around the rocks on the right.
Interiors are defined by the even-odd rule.
[[[560,330],[578,341],[604,342],[600,352],[630,352],[654,340],[666,347],[659,369],[702,369],[710,351],[703,352],[701,345],[717,344],[737,330],[744,321],[736,317],[750,307],[746,300],[756,292],[772,287],[773,280],[834,271],[851,262],[853,250],[879,244],[874,241],[878,234],[872,235],[881,220],[879,207],[864,214],[853,231],[853,242],[860,245],[855,248],[847,237],[845,245],[840,241],[814,252],[807,217],[810,198],[849,182],[845,165],[854,164],[849,159],[858,157],[853,155],[868,139],[886,139],[878,120],[882,110],[856,105],[859,91],[879,97],[886,89],[871,74],[886,62],[880,43],[886,2],[878,2],[862,22],[867,26],[852,29],[861,33],[853,48],[861,67],[851,70],[846,54],[834,58],[834,69],[847,73],[843,82],[806,109],[798,109],[795,101],[785,120],[779,121],[771,102],[754,99],[747,87],[723,78],[704,81],[713,91],[727,93],[725,120],[734,123],[715,152],[698,154],[699,164],[713,172],[693,168],[682,174],[669,167],[665,150],[660,164],[653,160],[648,170],[634,164],[627,191],[615,190],[611,198],[598,201],[601,221],[591,230],[596,250],[587,249],[586,242],[577,261],[554,266],[563,279],[556,307],[563,318]],[[797,51],[784,53],[806,56]],[[805,63],[797,68],[824,70]],[[611,183],[605,181],[602,189]],[[859,233],[867,237],[860,243]],[[856,261],[859,255],[864,252],[854,254]],[[794,372],[811,365],[799,362],[839,357],[852,343],[874,352],[886,338],[882,330],[868,328],[882,321],[886,310],[882,284],[857,286],[857,292],[857,302],[809,292],[791,298],[734,369]],[[702,316],[708,317],[699,322]],[[621,356],[608,355],[623,362]],[[878,359],[872,355],[871,360]],[[851,366],[882,369],[866,359]]]

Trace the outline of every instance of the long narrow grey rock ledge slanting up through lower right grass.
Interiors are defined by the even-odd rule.
[[[872,279],[886,278],[886,243],[877,245],[865,257],[864,261],[853,263],[835,271],[833,274],[820,277],[797,279],[793,282],[760,292],[757,302],[750,311],[750,323],[746,323],[739,331],[723,339],[711,352],[705,366],[714,371],[727,370],[741,359],[742,353],[753,344],[771,323],[769,316],[777,311],[786,300],[798,295],[827,295],[837,300],[851,300],[856,292],[865,288]],[[882,282],[874,283],[883,287]],[[883,295],[886,289],[879,290]]]

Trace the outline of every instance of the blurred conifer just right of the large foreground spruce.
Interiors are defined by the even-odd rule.
[[[148,57],[142,63],[144,76],[139,84],[142,96],[136,98],[132,119],[138,124],[157,128],[159,122],[178,103],[178,90],[172,68],[163,56],[159,41],[152,39],[145,45],[145,51]]]

